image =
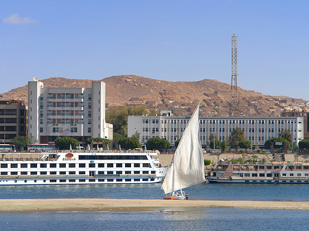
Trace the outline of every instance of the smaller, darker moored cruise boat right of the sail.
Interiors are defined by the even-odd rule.
[[[308,184],[309,162],[221,161],[207,180],[209,183]]]

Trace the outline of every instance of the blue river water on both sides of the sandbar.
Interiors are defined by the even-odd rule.
[[[2,186],[0,198],[158,199],[161,184]],[[190,199],[309,201],[309,184],[199,184]],[[147,212],[0,213],[0,230],[308,230],[307,210],[168,208]]]

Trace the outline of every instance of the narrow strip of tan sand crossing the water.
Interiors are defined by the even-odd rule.
[[[309,202],[163,199],[0,199],[0,212],[139,212],[156,208],[260,208],[309,210]]]

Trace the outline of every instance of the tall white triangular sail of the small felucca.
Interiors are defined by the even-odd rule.
[[[199,135],[198,108],[183,132],[174,159],[161,186],[164,193],[171,193],[205,182],[204,158]]]

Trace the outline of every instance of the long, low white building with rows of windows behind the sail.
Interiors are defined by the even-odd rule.
[[[190,117],[128,117],[128,136],[140,134],[144,144],[148,138],[166,138],[171,145],[183,135]],[[304,117],[200,117],[200,136],[203,147],[209,141],[209,134],[216,134],[220,141],[228,141],[236,127],[244,130],[247,141],[253,147],[263,147],[268,138],[277,137],[282,130],[289,130],[294,141],[304,139]]]

